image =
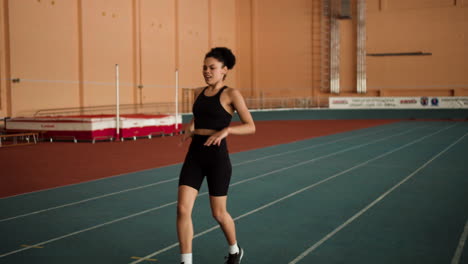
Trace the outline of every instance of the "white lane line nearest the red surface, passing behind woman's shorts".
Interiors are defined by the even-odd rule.
[[[415,130],[415,129],[418,129],[418,128],[421,128],[421,127],[416,127],[416,128],[411,129],[411,130]],[[366,133],[366,134],[349,136],[349,137],[333,140],[333,141],[330,141],[330,142],[316,144],[316,145],[309,146],[309,147],[304,147],[304,148],[300,148],[300,149],[280,152],[280,153],[277,153],[277,154],[264,156],[264,157],[261,157],[261,158],[258,158],[258,159],[239,162],[239,163],[233,164],[233,166],[240,166],[240,165],[244,165],[244,164],[248,164],[248,163],[252,163],[252,162],[256,162],[256,161],[260,161],[260,160],[265,160],[265,159],[269,159],[269,158],[273,158],[273,157],[278,157],[278,156],[282,156],[282,155],[291,154],[291,153],[294,153],[294,152],[299,152],[299,151],[304,151],[304,150],[308,150],[308,149],[318,148],[318,147],[321,147],[321,146],[330,145],[330,144],[333,144],[333,143],[336,143],[336,142],[340,142],[340,141],[344,141],[344,140],[348,140],[348,139],[352,139],[352,138],[356,138],[356,137],[374,135],[376,133],[380,133],[380,132],[384,132],[384,131],[386,131],[386,130],[378,130],[378,131],[373,131],[373,132]],[[0,223],[5,222],[5,221],[18,219],[18,218],[31,216],[31,215],[45,213],[45,212],[48,212],[48,211],[57,210],[57,209],[61,209],[61,208],[65,208],[65,207],[69,207],[69,206],[73,206],[73,205],[77,205],[77,204],[82,204],[82,203],[98,200],[98,199],[113,196],[113,195],[118,195],[118,194],[122,194],[122,193],[126,193],[126,192],[136,191],[136,190],[140,190],[140,189],[160,185],[160,184],[163,184],[163,183],[173,182],[173,181],[177,181],[178,179],[179,179],[179,177],[175,177],[175,178],[171,178],[171,179],[168,179],[168,180],[163,180],[163,181],[159,181],[159,182],[155,182],[155,183],[151,183],[151,184],[147,184],[147,185],[142,185],[142,186],[138,186],[138,187],[134,187],[134,188],[129,188],[129,189],[125,189],[125,190],[121,190],[121,191],[117,191],[117,192],[112,192],[112,193],[108,193],[108,194],[104,194],[104,195],[100,195],[100,196],[95,196],[95,197],[79,200],[79,201],[72,202],[72,203],[62,204],[62,205],[58,205],[58,206],[54,206],[54,207],[49,207],[49,208],[46,208],[46,209],[41,209],[41,210],[37,210],[37,211],[34,211],[34,212],[26,213],[26,214],[16,215],[16,216],[0,219]]]

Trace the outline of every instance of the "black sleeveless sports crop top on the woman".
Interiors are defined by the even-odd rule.
[[[227,86],[221,88],[217,94],[206,96],[205,89],[198,95],[193,103],[193,117],[195,129],[213,129],[222,130],[231,123],[232,115],[221,105],[221,93]]]

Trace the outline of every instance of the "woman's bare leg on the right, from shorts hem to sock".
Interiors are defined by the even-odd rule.
[[[236,243],[234,220],[226,209],[227,196],[210,196],[211,212],[219,223],[229,245]]]

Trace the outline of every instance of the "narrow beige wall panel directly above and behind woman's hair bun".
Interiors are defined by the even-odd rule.
[[[212,0],[211,2],[211,47],[227,47],[239,57],[236,45],[236,3],[235,0]],[[238,87],[238,62],[228,74],[226,84]]]

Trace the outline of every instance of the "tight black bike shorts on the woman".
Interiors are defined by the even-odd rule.
[[[204,146],[209,137],[193,136],[180,172],[179,186],[188,185],[199,191],[206,176],[209,194],[225,196],[228,193],[232,174],[226,139],[221,141],[220,146]]]

